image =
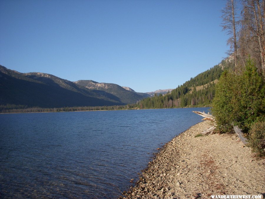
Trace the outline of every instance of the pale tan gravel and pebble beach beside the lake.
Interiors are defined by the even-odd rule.
[[[264,193],[265,159],[256,159],[235,134],[194,137],[210,126],[200,122],[167,142],[120,198]]]

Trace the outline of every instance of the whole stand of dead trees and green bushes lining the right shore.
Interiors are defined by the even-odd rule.
[[[248,146],[265,156],[265,1],[241,1],[241,14],[235,12],[235,1],[227,1],[222,24],[231,36],[228,53],[235,67],[221,75],[212,113],[219,132],[238,125]]]

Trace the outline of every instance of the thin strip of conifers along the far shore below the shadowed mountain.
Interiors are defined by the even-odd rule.
[[[41,113],[41,112],[67,112],[67,111],[110,111],[135,109],[135,104],[122,106],[75,106],[61,108],[28,107],[25,105],[0,105],[0,113]]]

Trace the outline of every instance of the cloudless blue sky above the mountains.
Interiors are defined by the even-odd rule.
[[[1,0],[0,64],[137,92],[176,88],[226,57],[223,0]]]

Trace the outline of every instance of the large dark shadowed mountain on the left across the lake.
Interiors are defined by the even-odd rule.
[[[123,105],[105,91],[87,89],[46,73],[19,73],[0,65],[0,104],[72,107]]]

